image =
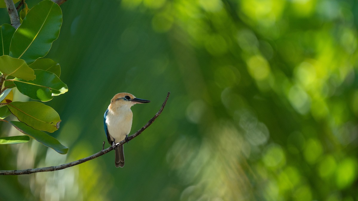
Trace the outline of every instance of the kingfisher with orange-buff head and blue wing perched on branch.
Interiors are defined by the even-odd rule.
[[[130,93],[117,93],[108,106],[103,124],[108,143],[115,149],[116,167],[124,166],[124,149],[123,144],[115,147],[115,144],[123,141],[128,142],[128,134],[131,131],[133,113],[131,107],[137,103],[149,103],[150,100],[136,98]]]

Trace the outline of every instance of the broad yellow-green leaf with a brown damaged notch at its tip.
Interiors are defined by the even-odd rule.
[[[34,129],[56,131],[60,127],[60,116],[50,106],[39,102],[11,102],[7,104],[11,113],[13,113],[21,122],[26,123]]]

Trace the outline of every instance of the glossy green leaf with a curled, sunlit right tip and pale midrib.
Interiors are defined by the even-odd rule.
[[[51,100],[54,95],[60,95],[68,91],[67,85],[55,74],[40,69],[34,71],[36,79],[32,81],[26,82],[23,79],[14,79],[16,87],[22,94],[45,102]]]

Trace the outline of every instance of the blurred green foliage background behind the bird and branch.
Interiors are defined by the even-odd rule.
[[[109,153],[61,171],[1,176],[2,200],[358,199],[355,1],[90,0],[61,8],[47,57],[71,90],[48,104],[63,120],[53,136],[69,152],[3,145],[1,170],[100,151],[103,113],[118,92],[152,101],[132,108],[133,133],[171,97],[125,144],[124,168]]]

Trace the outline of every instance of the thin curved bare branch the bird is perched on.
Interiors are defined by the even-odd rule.
[[[170,92],[168,92],[168,95],[166,95],[166,98],[163,102],[163,104],[161,105],[161,108],[159,109],[159,111],[155,114],[155,116],[153,118],[151,118],[149,120],[148,123],[146,123],[141,129],[139,129],[137,132],[135,132],[134,134],[132,134],[131,136],[129,136],[127,138],[128,141],[131,141],[133,138],[139,136],[146,128],[148,128],[150,126],[150,124],[152,124],[154,122],[154,120],[159,117],[159,115],[161,114],[161,112],[163,111],[165,105],[166,105],[166,101],[169,98],[169,94]],[[121,144],[126,143],[126,140],[123,140],[120,143],[115,144],[115,147],[120,146]],[[26,169],[26,170],[0,170],[0,175],[26,175],[26,174],[31,174],[31,173],[35,173],[35,172],[48,172],[48,171],[55,171],[55,170],[62,170],[64,168],[68,168],[68,167],[72,167],[81,163],[84,163],[86,161],[92,160],[94,158],[97,158],[99,156],[102,156],[110,151],[113,150],[113,147],[110,146],[106,149],[102,149],[100,152],[97,152],[91,156],[88,156],[86,158],[82,158],[80,160],[77,161],[73,161],[70,163],[66,163],[66,164],[62,164],[59,166],[50,166],[50,167],[40,167],[40,168],[34,168],[34,169]]]

